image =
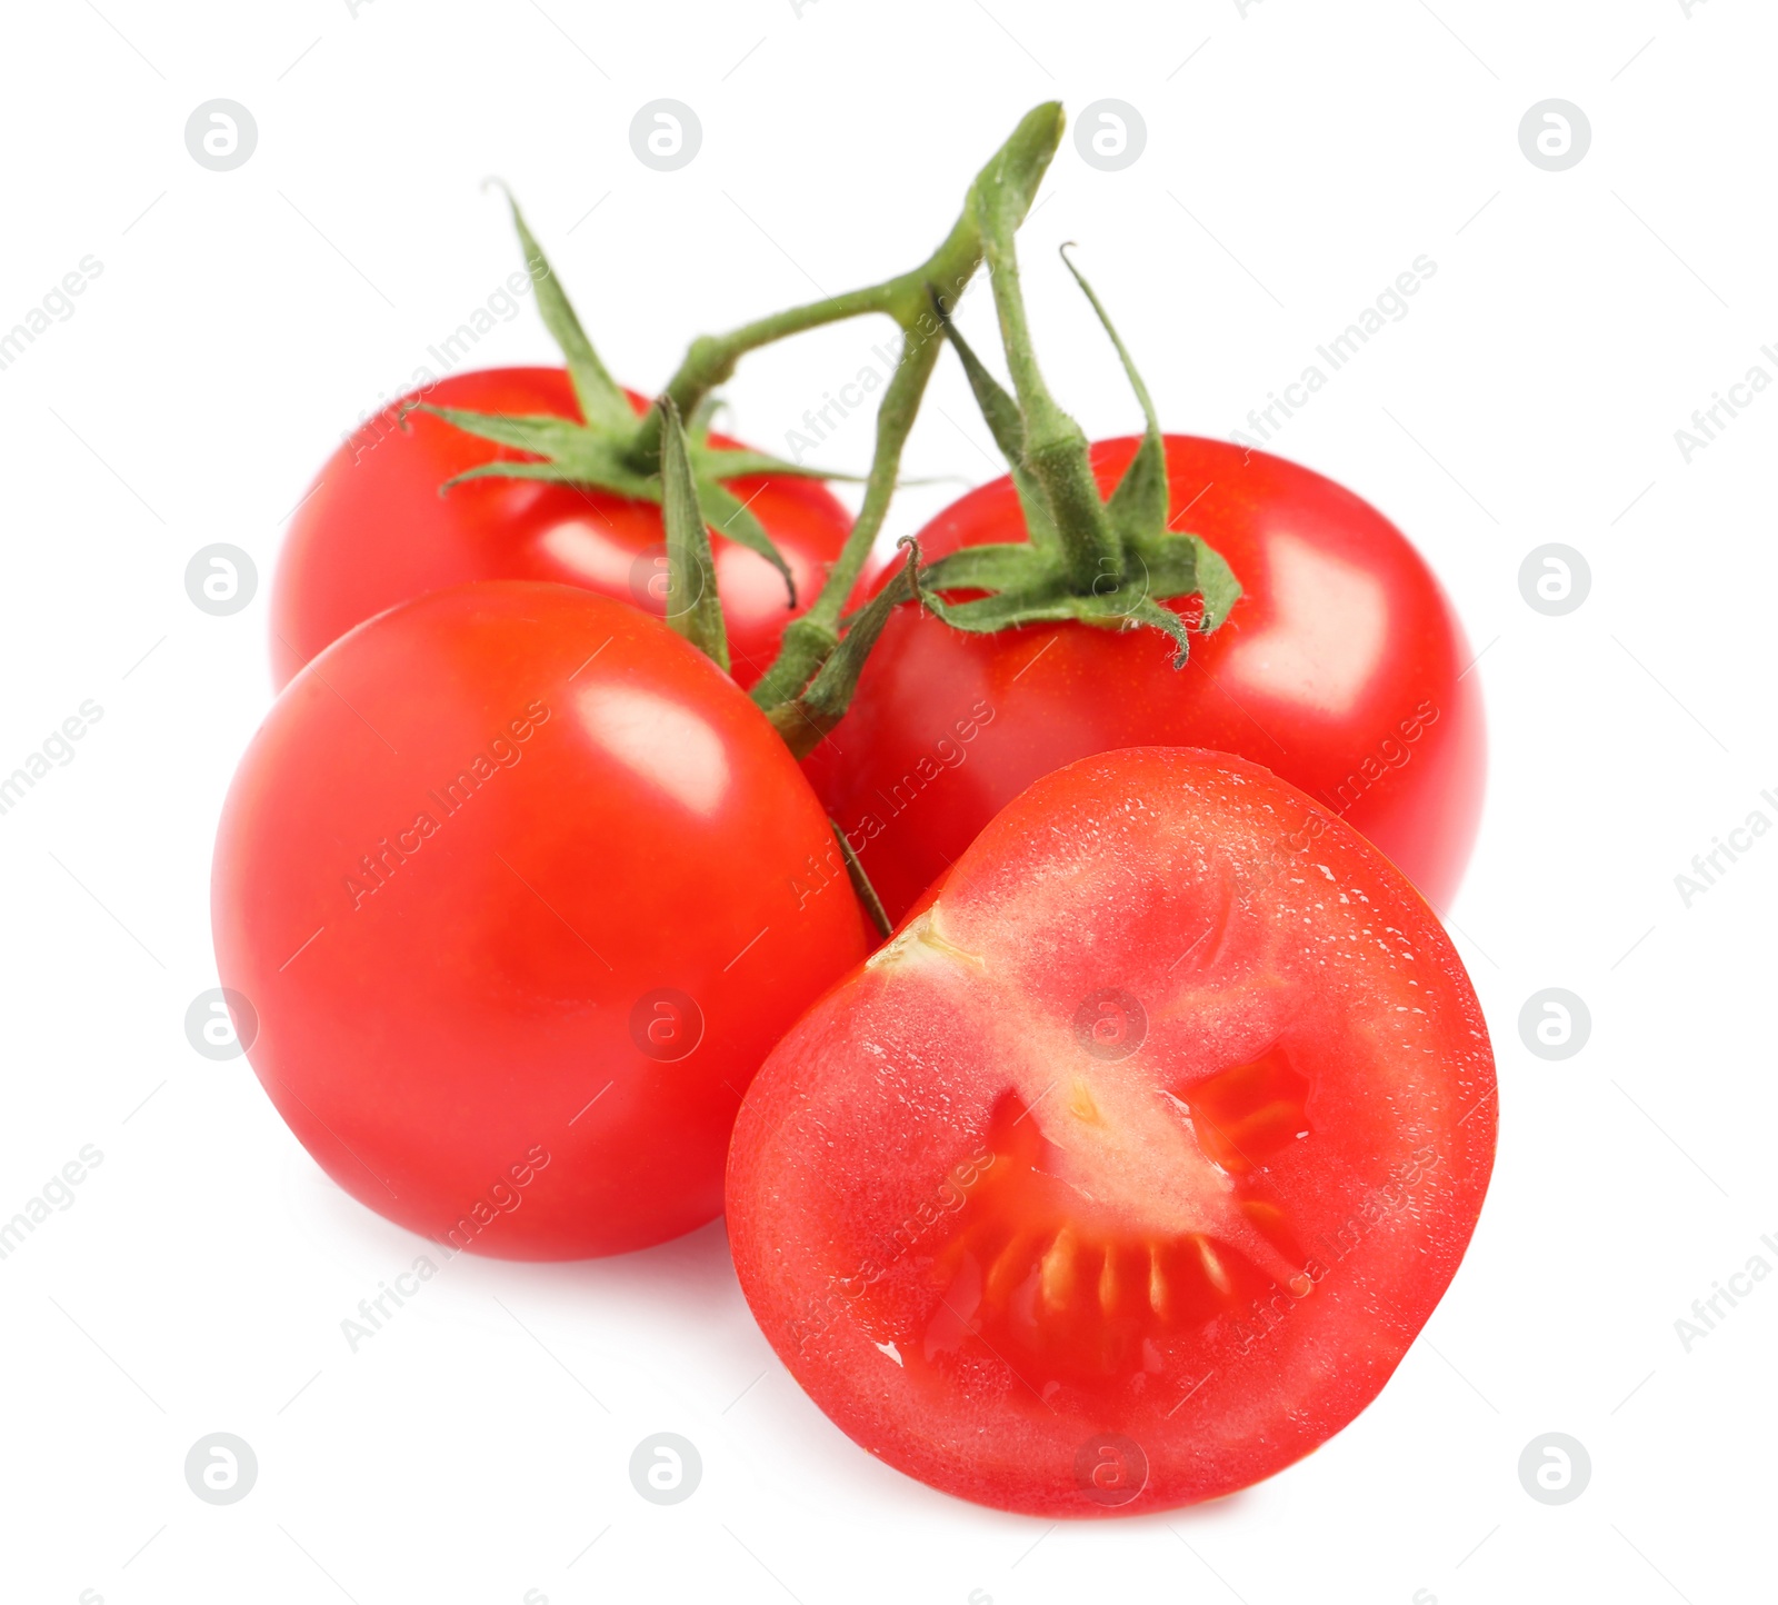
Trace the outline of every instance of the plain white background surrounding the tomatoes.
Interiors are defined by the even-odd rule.
[[[1675,1320],[1778,1233],[1769,1044],[1778,840],[1691,907],[1675,874],[1778,792],[1769,496],[1778,395],[1687,464],[1673,431],[1778,340],[1771,64],[1753,0],[789,0],[633,5],[96,0],[5,23],[0,327],[103,276],[0,372],[0,770],[82,699],[103,722],[0,817],[0,1217],[103,1164],[0,1262],[0,1594],[20,1601],[542,1598],[1301,1601],[1769,1598],[1778,1278],[1686,1352]],[[247,105],[252,158],[187,153]],[[679,173],[631,153],[690,103]],[[187,1044],[215,984],[210,840],[270,690],[281,525],[340,434],[516,267],[500,174],[610,367],[917,262],[1029,105],[1072,137],[1024,235],[1051,379],[1093,434],[1134,406],[1051,247],[1081,263],[1163,420],[1229,434],[1421,253],[1437,278],[1277,448],[1419,543],[1483,651],[1488,810],[1453,907],[1494,1027],[1501,1157],[1474,1247],[1382,1399],[1303,1464],[1168,1516],[1061,1525],[935,1495],[846,1441],[754,1327],[722,1226],[624,1260],[459,1258],[350,1352],[423,1249],[341,1196],[244,1062]],[[1518,121],[1575,101],[1586,158]],[[597,210],[592,210],[597,206]],[[589,215],[590,212],[590,215]],[[980,329],[985,301],[971,317]],[[782,448],[887,326],[747,363],[733,427]],[[475,363],[553,359],[530,302]],[[909,470],[983,456],[953,363]],[[862,466],[869,425],[829,461]],[[891,534],[955,493],[910,491]],[[228,619],[183,589],[229,541]],[[1518,566],[1584,552],[1545,617]],[[1593,1016],[1563,1062],[1520,1005]],[[1726,1308],[1726,1306],[1723,1306]],[[256,1450],[212,1507],[187,1448]],[[704,1479],[628,1480],[674,1431]],[[1520,1450],[1590,1450],[1574,1504]],[[589,1548],[589,1543],[592,1548]]]

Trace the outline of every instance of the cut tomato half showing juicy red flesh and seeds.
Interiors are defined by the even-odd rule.
[[[734,1265],[814,1402],[933,1488],[1214,1498],[1394,1372],[1494,1091],[1456,952],[1357,831],[1241,758],[1086,758],[766,1061]]]

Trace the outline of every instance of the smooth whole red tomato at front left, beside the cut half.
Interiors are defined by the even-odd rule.
[[[871,947],[747,696],[640,610],[532,582],[421,596],[290,683],[222,811],[212,920],[322,1167],[526,1260],[713,1219],[747,1082]]]

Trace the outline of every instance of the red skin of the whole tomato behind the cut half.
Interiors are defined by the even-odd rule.
[[[1093,447],[1106,491],[1134,448]],[[1374,507],[1282,457],[1166,436],[1166,464],[1172,527],[1204,536],[1243,585],[1184,669],[1156,630],[964,635],[914,609],[889,621],[837,742],[805,769],[891,918],[1038,776],[1175,742],[1277,770],[1449,906],[1481,815],[1486,738],[1437,578]],[[919,548],[933,561],[1021,539],[1001,479],[941,512]]]

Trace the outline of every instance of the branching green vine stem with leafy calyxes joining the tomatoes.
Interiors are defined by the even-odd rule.
[[[1061,107],[1056,103],[1040,105],[1021,119],[976,174],[962,214],[923,263],[878,285],[793,306],[743,324],[729,335],[693,340],[661,402],[640,416],[599,361],[542,247],[514,203],[514,224],[539,285],[539,306],[567,361],[581,422],[436,407],[432,411],[448,423],[525,450],[535,459],[485,463],[462,477],[501,475],[592,484],[663,502],[669,525],[676,521],[676,511],[681,523],[688,512],[711,520],[727,536],[777,564],[795,609],[797,593],[788,566],[765,528],[724,480],[743,473],[814,477],[818,472],[763,452],[713,447],[708,440],[709,399],[715,386],[731,377],[736,363],[750,351],[843,319],[882,313],[896,322],[903,338],[900,361],[877,415],[877,441],[862,505],[814,603],[786,626],[777,658],[752,689],[756,705],[772,717],[791,751],[798,758],[805,756],[845,714],[868,646],[880,632],[887,610],[912,596],[953,628],[967,632],[992,633],[1063,619],[1108,628],[1157,628],[1175,642],[1175,664],[1182,665],[1191,632],[1214,630],[1227,617],[1241,594],[1239,582],[1207,543],[1166,527],[1166,463],[1154,404],[1109,315],[1074,263],[1067,262],[1067,253],[1063,260],[1115,343],[1147,423],[1141,448],[1109,498],[1099,495],[1085,432],[1044,381],[1026,317],[1013,237],[1029,214],[1037,185],[1056,151],[1061,123]],[[989,374],[949,320],[962,290],[983,262],[992,274],[1001,345],[1013,381],[1012,395]],[[944,338],[957,349],[996,443],[1012,466],[1029,539],[955,552],[925,573],[910,559],[871,607],[848,621],[846,601],[882,530],[901,454]],[[686,418],[692,420],[690,429],[685,427]],[[676,614],[676,628],[692,626],[692,639],[727,667],[708,536],[693,539],[681,528],[677,537],[669,536],[669,548],[676,553],[676,564],[699,564],[695,575],[681,573],[672,580],[683,609],[690,609]],[[951,594],[958,591],[974,594],[953,601]],[[1161,605],[1188,596],[1200,600],[1191,616]],[[843,641],[853,635],[861,644],[841,651]]]

